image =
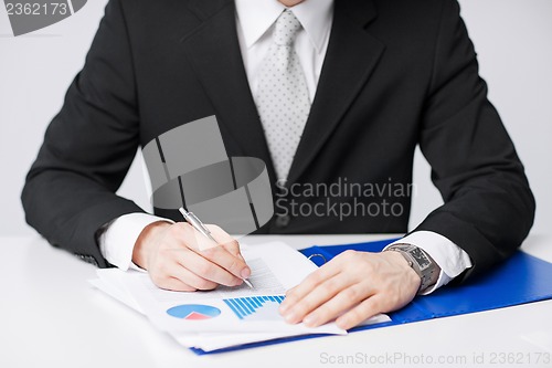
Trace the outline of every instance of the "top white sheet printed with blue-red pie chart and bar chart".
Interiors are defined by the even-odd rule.
[[[309,328],[289,325],[278,313],[286,290],[316,265],[284,243],[244,246],[254,288],[219,286],[209,292],[170,292],[153,285],[147,274],[134,274],[125,286],[158,328],[169,333],[304,332],[346,334],[335,324]]]

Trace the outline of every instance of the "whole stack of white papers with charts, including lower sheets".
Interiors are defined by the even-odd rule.
[[[170,292],[158,288],[146,273],[99,270],[93,284],[145,314],[159,329],[187,347],[204,350],[304,334],[347,334],[333,323],[310,328],[287,324],[278,313],[286,290],[296,286],[317,266],[282,242],[243,245],[252,270],[237,287],[209,292]],[[367,324],[390,320],[380,315]]]

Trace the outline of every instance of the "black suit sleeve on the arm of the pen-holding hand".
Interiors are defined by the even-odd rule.
[[[23,188],[26,221],[50,243],[108,266],[96,231],[144,212],[115,194],[138,148],[138,120],[125,17],[119,0],[112,0]]]

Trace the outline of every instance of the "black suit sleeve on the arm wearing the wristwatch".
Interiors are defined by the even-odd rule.
[[[445,204],[416,230],[464,249],[474,266],[461,280],[507,259],[529,233],[534,199],[516,149],[487,98],[474,45],[456,1],[443,13],[420,135]]]

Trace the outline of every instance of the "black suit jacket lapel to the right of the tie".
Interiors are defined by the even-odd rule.
[[[317,156],[375,67],[384,45],[364,30],[375,15],[371,0],[336,0],[317,94],[287,185],[296,181]]]

